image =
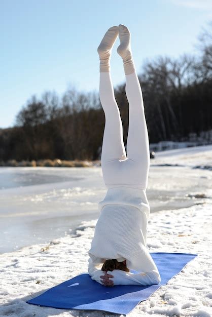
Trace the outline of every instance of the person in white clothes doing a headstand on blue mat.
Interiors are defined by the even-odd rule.
[[[120,45],[117,52],[123,60],[129,102],[127,155],[110,73],[111,52],[118,35]],[[88,272],[92,280],[104,286],[152,285],[161,281],[146,247],[150,213],[146,195],[150,168],[149,136],[130,36],[126,26],[113,26],[105,33],[97,49],[99,98],[105,115],[101,168],[108,190],[98,203],[100,215],[88,251]]]

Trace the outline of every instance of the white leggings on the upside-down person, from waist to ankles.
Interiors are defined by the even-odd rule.
[[[126,76],[129,102],[127,155],[123,126],[110,72],[100,72],[99,98],[105,115],[101,149],[101,169],[107,188],[125,186],[146,190],[150,168],[149,136],[145,109],[136,72]]]

